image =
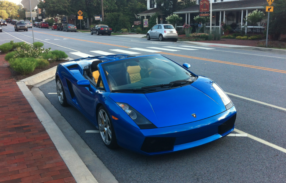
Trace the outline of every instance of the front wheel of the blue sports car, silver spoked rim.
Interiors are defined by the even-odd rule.
[[[97,123],[101,138],[109,149],[118,147],[115,132],[109,114],[105,107],[101,106],[97,112]]]

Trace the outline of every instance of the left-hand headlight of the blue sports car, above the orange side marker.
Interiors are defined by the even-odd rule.
[[[128,105],[127,103],[116,102],[121,109],[128,114],[128,116],[138,125],[140,129],[150,129],[157,128],[151,121],[145,118],[142,114],[140,114],[133,107]]]

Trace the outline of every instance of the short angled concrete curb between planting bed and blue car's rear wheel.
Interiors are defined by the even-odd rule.
[[[70,57],[68,57],[67,59],[73,60]],[[40,83],[54,76],[56,70],[57,70],[57,66],[54,66],[48,70],[35,74],[34,76],[31,76],[31,77],[27,77],[21,81],[24,82],[26,85],[34,85],[34,84]]]

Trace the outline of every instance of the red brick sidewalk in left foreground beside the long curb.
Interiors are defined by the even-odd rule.
[[[75,182],[0,55],[0,183]]]

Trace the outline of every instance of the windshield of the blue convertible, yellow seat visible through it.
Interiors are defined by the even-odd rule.
[[[193,81],[195,75],[164,56],[145,56],[101,64],[111,91],[142,89],[173,81]],[[158,88],[156,91],[171,88]],[[116,92],[116,91],[115,91]]]

